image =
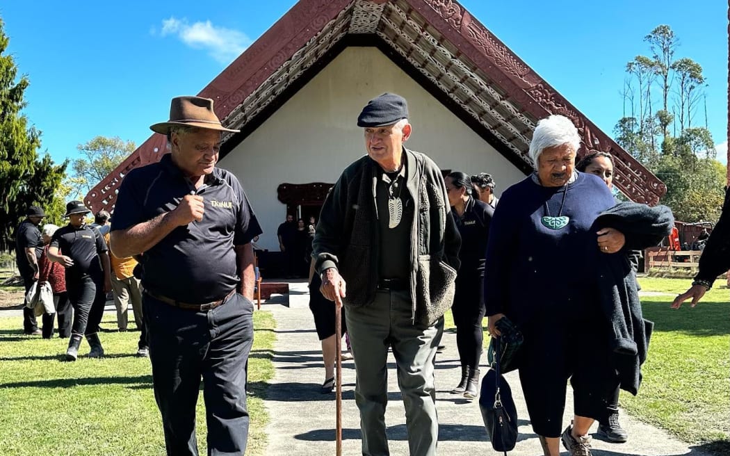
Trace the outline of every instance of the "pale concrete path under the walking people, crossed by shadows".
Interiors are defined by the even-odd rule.
[[[267,429],[269,447],[266,455],[334,455],[335,401],[334,394],[322,395],[320,384],[324,381],[320,344],[314,329],[314,320],[308,307],[307,285],[293,282],[290,285],[289,307],[274,304],[274,297],[261,309],[272,312],[277,320],[277,342],[274,345],[276,374],[269,387],[266,408],[271,415]],[[281,302],[282,300],[278,300]],[[479,406],[459,395],[449,393],[458,382],[460,369],[456,352],[456,333],[444,333],[445,352],[437,355],[436,384],[439,411],[439,454],[499,455],[489,443]],[[396,384],[395,361],[392,355],[388,364],[388,411],[385,422],[391,442],[392,455],[407,455],[404,408]],[[483,367],[483,371],[486,368]],[[361,434],[358,410],[354,400],[355,370],[352,361],[345,361],[343,380],[343,455],[361,455]],[[525,408],[518,377],[507,375],[515,401],[518,403],[520,436],[517,447],[510,452],[514,456],[542,455],[537,437],[532,432]],[[568,395],[567,410],[572,409],[572,395]],[[564,426],[570,417],[566,414]],[[593,439],[593,455],[618,456],[710,456],[699,449],[677,441],[664,432],[634,420],[625,413],[621,422],[629,431],[629,442],[610,444]],[[594,425],[595,426],[595,425]],[[595,428],[593,429],[595,430]],[[563,455],[568,453],[564,451]]]

